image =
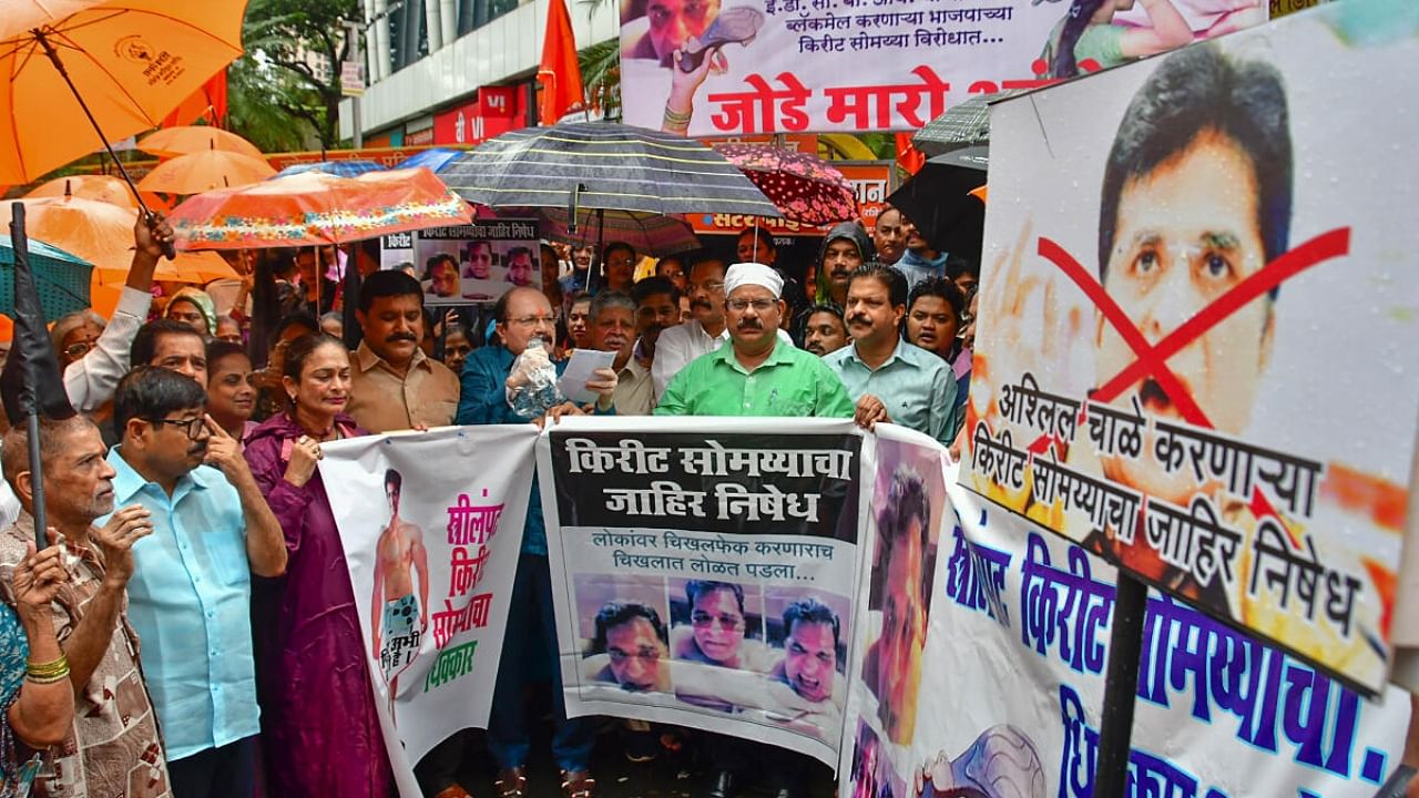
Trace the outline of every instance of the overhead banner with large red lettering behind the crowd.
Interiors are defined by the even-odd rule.
[[[1103,6],[622,3],[624,121],[653,129],[688,121],[692,136],[911,131],[975,94],[1047,85],[1267,18],[1263,0]],[[721,60],[707,62],[717,45]],[[687,54],[678,67],[675,50]]]

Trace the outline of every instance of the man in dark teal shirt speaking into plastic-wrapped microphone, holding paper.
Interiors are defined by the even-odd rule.
[[[514,288],[498,300],[492,308],[497,321],[498,339],[474,351],[463,365],[463,396],[458,400],[460,425],[515,425],[528,422],[508,402],[507,382],[518,355],[538,339],[548,351],[556,346],[556,314],[546,295],[536,288]],[[559,372],[565,362],[556,364]],[[612,408],[616,393],[616,375],[600,369],[597,379],[586,388],[600,395],[599,410]],[[518,559],[517,575],[512,579],[512,603],[508,611],[508,628],[524,630],[507,635],[502,643],[502,662],[508,667],[498,669],[498,682],[492,693],[492,713],[488,718],[488,748],[498,761],[498,777],[494,784],[499,798],[519,798],[526,791],[526,761],[532,743],[524,686],[532,657],[556,652],[556,621],[552,615],[552,571],[546,559],[546,528],[542,520],[542,504],[536,501],[538,481],[529,486],[532,501],[528,504],[522,525],[522,555]],[[556,696],[556,723],[552,734],[552,758],[562,772],[562,792],[566,798],[587,798],[595,780],[589,770],[595,723],[590,718],[568,718],[562,701],[561,666],[555,660],[546,663],[553,673]]]

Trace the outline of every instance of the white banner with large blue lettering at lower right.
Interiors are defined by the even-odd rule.
[[[934,447],[878,429],[885,430],[878,453],[890,447],[888,436],[918,463]],[[937,453],[944,461],[939,447]],[[905,662],[925,666],[920,677],[910,670],[914,676],[895,684],[885,672],[878,684],[854,679],[839,794],[1097,795],[1117,572],[959,487],[955,466],[944,467],[946,511],[928,579],[929,621],[922,639],[895,646],[910,653]],[[864,479],[881,487],[897,481],[900,470],[880,457],[876,477]],[[874,510],[883,513],[881,505]],[[918,544],[902,544],[908,562]],[[863,591],[905,594],[895,576]],[[874,623],[858,623],[858,649]],[[1149,592],[1144,635],[1131,781],[1118,798],[1372,798],[1398,765],[1409,717],[1409,696],[1398,687],[1368,701],[1156,592]],[[878,694],[915,696],[915,706],[884,711]]]

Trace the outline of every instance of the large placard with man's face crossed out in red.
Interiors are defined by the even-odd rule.
[[[1347,118],[1416,109],[1355,91],[1419,68],[1406,13],[1335,3],[992,109],[962,469],[1368,693],[1419,417],[1419,160],[1391,156],[1402,114]]]

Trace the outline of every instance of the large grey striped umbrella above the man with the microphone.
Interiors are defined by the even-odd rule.
[[[612,122],[563,122],[502,133],[438,175],[488,207],[580,207],[640,213],[782,216],[744,173],[708,146]]]

